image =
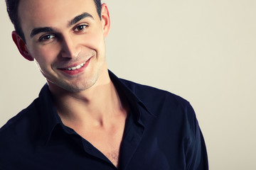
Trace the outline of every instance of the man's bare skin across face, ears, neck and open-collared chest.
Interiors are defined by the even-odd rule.
[[[26,43],[15,31],[12,38],[46,77],[64,125],[118,166],[127,107],[107,72],[107,5],[102,4],[102,20],[92,0],[21,0],[18,14]]]

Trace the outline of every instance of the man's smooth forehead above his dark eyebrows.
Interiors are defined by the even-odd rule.
[[[18,6],[23,31],[30,27],[58,27],[84,12],[97,18],[93,0],[21,0]]]

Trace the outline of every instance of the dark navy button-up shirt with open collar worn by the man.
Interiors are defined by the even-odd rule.
[[[208,169],[203,135],[188,101],[167,91],[110,78],[129,102],[118,169]],[[0,169],[117,169],[63,125],[48,85],[0,129]]]

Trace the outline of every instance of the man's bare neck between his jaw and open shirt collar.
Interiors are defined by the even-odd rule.
[[[107,126],[112,118],[126,116],[126,108],[122,104],[117,90],[107,73],[107,79],[96,83],[85,91],[52,91],[55,106],[63,123],[68,126],[91,125]]]

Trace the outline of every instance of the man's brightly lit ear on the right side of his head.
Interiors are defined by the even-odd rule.
[[[104,38],[107,37],[108,33],[110,32],[110,13],[107,8],[107,4],[102,4],[102,28],[103,28],[103,35]]]

